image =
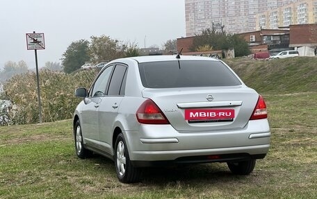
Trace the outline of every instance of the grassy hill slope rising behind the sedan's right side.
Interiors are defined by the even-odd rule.
[[[260,93],[316,92],[317,57],[225,60],[243,82]]]

